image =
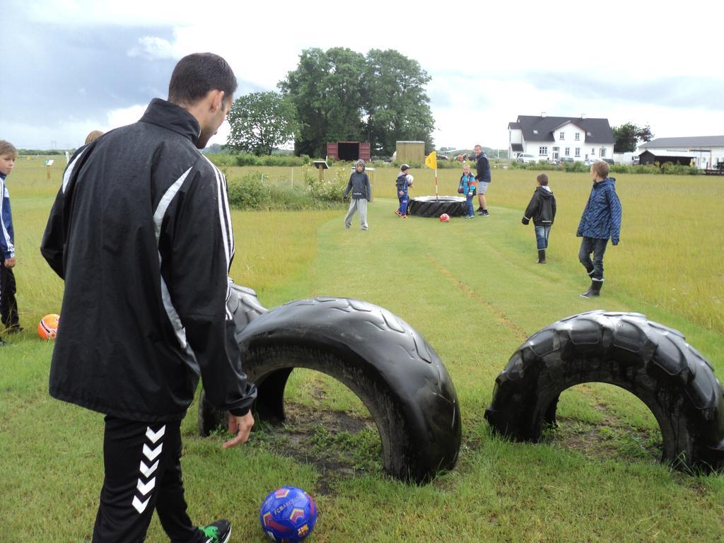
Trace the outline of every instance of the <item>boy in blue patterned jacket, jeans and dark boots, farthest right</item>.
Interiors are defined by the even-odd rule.
[[[618,245],[621,232],[621,203],[616,195],[616,180],[608,177],[608,163],[594,162],[591,167],[591,179],[593,180],[591,195],[576,232],[577,237],[583,237],[578,260],[592,279],[589,290],[581,294],[584,298],[593,298],[600,294],[604,281],[603,255],[606,245],[609,238],[613,245]]]

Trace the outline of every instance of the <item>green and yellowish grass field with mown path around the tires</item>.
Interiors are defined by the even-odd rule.
[[[50,183],[41,159],[19,161],[8,177],[26,328],[0,350],[0,539],[8,542],[89,541],[102,481],[102,416],[49,397],[52,345],[33,332],[62,298],[62,282],[38,252],[62,162]],[[264,172],[291,182],[289,168]],[[434,193],[432,172],[412,173],[413,195]],[[440,193],[454,193],[458,172],[439,174]],[[458,392],[463,447],[455,470],[432,484],[389,479],[361,403],[324,376],[295,371],[287,425],[258,424],[245,447],[224,451],[220,436],[198,437],[192,406],[182,424],[192,518],[227,516],[232,541],[261,543],[258,505],[269,490],[292,484],[319,505],[313,542],[724,541],[724,478],[661,466],[654,418],[628,392],[602,384],[564,392],[560,429],[544,444],[489,433],[484,409],[510,354],[573,313],[645,313],[680,329],[724,374],[724,183],[618,177],[621,243],[607,250],[602,297],[584,300],[575,231],[590,182],[586,174],[549,174],[559,214],[545,266],[534,264],[532,227],[520,223],[534,172],[494,170],[491,216],[450,224],[398,219],[391,168],[375,172],[368,232],[356,223],[345,230],[342,209],[235,212],[232,277],[255,288],[265,306],[313,295],[361,298],[397,313],[429,341]],[[302,178],[295,169],[295,182]],[[154,520],[148,541],[165,540]]]

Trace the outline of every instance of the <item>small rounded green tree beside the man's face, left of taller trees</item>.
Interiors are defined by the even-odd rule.
[[[279,93],[240,96],[229,112],[231,132],[227,146],[235,151],[269,155],[294,138],[297,131],[294,105]]]

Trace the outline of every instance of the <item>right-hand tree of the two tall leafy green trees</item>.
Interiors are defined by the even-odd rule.
[[[434,120],[425,93],[427,72],[394,49],[371,49],[366,64],[363,110],[374,153],[392,154],[399,140],[424,141],[425,151],[432,151]]]

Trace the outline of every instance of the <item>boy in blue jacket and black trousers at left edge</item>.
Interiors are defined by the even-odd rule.
[[[8,334],[20,332],[20,319],[17,316],[15,301],[15,233],[12,227],[10,211],[10,193],[5,179],[12,172],[17,158],[17,150],[12,143],[0,140],[0,317],[2,327]],[[0,346],[4,345],[0,337]]]

